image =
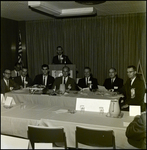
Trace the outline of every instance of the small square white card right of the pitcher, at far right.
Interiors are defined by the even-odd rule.
[[[141,107],[130,105],[129,106],[129,115],[130,116],[141,115]]]

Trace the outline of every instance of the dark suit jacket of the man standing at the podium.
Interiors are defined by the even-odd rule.
[[[52,64],[72,64],[71,61],[69,60],[68,56],[62,55],[63,60],[62,63],[58,60],[58,55],[53,57]],[[66,63],[65,63],[66,62]]]

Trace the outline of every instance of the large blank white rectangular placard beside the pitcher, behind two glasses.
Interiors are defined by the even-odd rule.
[[[77,98],[76,110],[108,113],[110,102],[109,99]]]

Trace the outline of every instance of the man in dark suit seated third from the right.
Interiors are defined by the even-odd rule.
[[[84,78],[79,79],[78,87],[79,89],[89,87],[92,91],[98,89],[98,81],[96,78],[92,77],[91,69],[89,67],[84,68]]]

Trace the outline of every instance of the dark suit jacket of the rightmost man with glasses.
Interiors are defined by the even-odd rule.
[[[131,89],[135,89],[135,97],[131,98]],[[145,85],[143,80],[139,77],[136,77],[133,84],[130,85],[130,79],[128,79],[125,85],[118,90],[119,93],[124,94],[125,104],[128,105],[140,105],[142,111],[144,110],[144,94],[145,94]]]

